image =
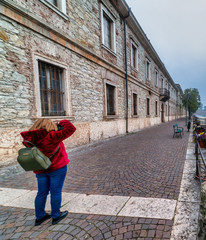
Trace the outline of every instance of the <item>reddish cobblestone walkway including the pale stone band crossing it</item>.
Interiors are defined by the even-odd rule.
[[[184,121],[176,122],[184,126]],[[189,133],[173,139],[173,124],[69,151],[63,204],[70,213],[56,226],[47,221],[34,227],[35,176],[18,166],[1,170],[0,196],[4,198],[0,199],[6,199],[0,200],[2,238],[157,240],[170,239],[172,233],[178,239],[180,230],[175,230],[173,221],[182,194]],[[21,194],[16,196],[15,189]],[[161,205],[167,201],[166,206]]]

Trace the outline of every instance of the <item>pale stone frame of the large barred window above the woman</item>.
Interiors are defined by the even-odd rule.
[[[34,76],[34,94],[35,94],[35,113],[34,117],[36,118],[53,118],[53,119],[60,119],[60,118],[72,118],[72,102],[71,102],[71,87],[70,87],[70,78],[69,78],[69,68],[67,65],[64,65],[60,62],[57,62],[53,59],[48,57],[33,54],[33,76]],[[47,64],[54,65],[63,69],[62,73],[62,91],[64,91],[63,97],[63,106],[65,115],[64,116],[43,116],[42,109],[41,109],[41,95],[40,95],[40,82],[39,82],[39,66],[38,62],[42,61]]]

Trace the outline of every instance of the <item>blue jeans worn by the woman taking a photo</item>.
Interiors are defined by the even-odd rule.
[[[51,195],[51,214],[52,218],[60,215],[62,201],[62,188],[67,173],[67,166],[50,173],[36,174],[38,183],[38,193],[35,198],[36,219],[43,218],[46,215],[45,205],[47,195]]]

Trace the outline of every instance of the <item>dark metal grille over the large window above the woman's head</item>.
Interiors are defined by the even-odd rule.
[[[38,66],[42,116],[64,116],[63,69],[42,61]]]

